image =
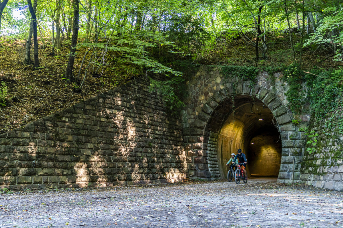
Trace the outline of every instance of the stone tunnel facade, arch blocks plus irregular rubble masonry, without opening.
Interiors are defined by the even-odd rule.
[[[209,180],[221,178],[216,149],[218,130],[227,114],[223,113],[221,107],[229,105],[233,97],[245,95],[265,104],[276,120],[282,144],[277,182],[299,182],[306,135],[298,132],[298,129],[307,125],[309,117],[301,117],[304,120],[301,126],[292,122],[284,95],[287,85],[280,81],[282,75],[275,74],[272,83],[267,72],[262,72],[251,86],[250,81],[224,79],[219,71],[217,67],[201,67],[187,82],[189,98],[182,119],[189,177]]]

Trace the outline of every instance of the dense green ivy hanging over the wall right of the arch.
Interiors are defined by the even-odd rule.
[[[327,120],[327,130],[338,128],[343,133],[342,71],[314,68],[305,72],[294,64],[284,69],[284,76],[289,85],[285,95],[293,115],[308,113],[304,108],[308,104],[313,117]]]

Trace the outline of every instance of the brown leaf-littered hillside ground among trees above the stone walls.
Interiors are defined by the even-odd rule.
[[[294,38],[295,43],[299,42],[299,37]],[[259,61],[259,67],[279,67],[293,62],[288,34],[280,37],[269,37],[267,41],[268,59]],[[228,43],[229,45],[216,44],[214,48],[204,48],[206,51],[198,54],[197,62],[205,65],[256,65],[253,47],[239,39]],[[0,133],[15,129],[50,113],[67,108],[81,100],[108,91],[118,82],[124,83],[129,78],[128,76],[118,76],[118,73],[116,76],[114,75],[115,70],[107,67],[101,77],[93,78],[87,75],[82,92],[76,93],[74,92],[75,85],[66,83],[61,76],[66,69],[68,48],[62,48],[56,56],[51,56],[51,48],[40,49],[41,68],[33,71],[31,65],[25,66],[23,64],[24,44],[24,40],[7,40],[4,47],[0,49],[0,81],[5,81],[9,88],[6,95],[7,106],[1,107]],[[252,61],[246,61],[232,46]],[[75,74],[79,71],[83,54],[84,50],[78,50],[75,59]],[[298,52],[297,58],[299,58]],[[340,64],[332,61],[332,53],[321,51],[320,48],[316,51],[304,49],[303,68],[305,70],[314,66],[323,69],[337,68]],[[84,67],[81,77],[83,75]]]

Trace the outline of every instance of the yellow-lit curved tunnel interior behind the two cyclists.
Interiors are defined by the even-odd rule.
[[[234,111],[233,111],[234,110]],[[220,104],[209,125],[218,134],[217,158],[222,178],[231,154],[242,149],[248,176],[277,176],[281,163],[281,138],[270,109],[257,98],[236,96]]]

